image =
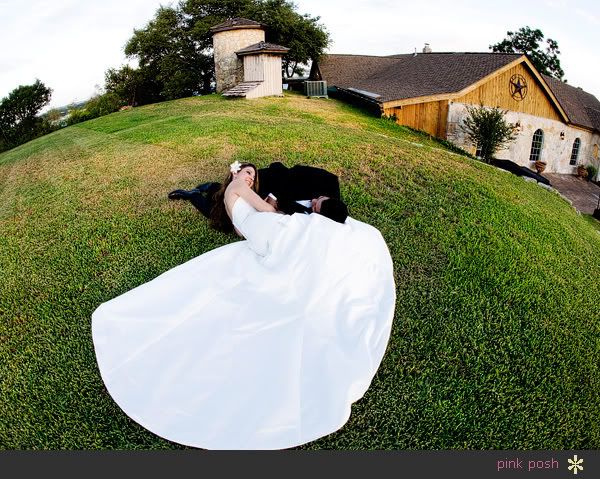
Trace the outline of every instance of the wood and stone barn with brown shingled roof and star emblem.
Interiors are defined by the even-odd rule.
[[[541,75],[521,54],[424,53],[387,57],[325,55],[311,69],[332,94],[395,116],[405,126],[476,154],[460,127],[467,105],[499,106],[518,127],[498,158],[548,172],[575,173],[598,160],[600,102],[580,88]]]

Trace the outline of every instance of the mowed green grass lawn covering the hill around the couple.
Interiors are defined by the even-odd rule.
[[[180,447],[107,394],[90,318],[236,241],[167,199],[233,160],[336,173],[394,260],[383,363],[346,426],[305,448],[600,447],[596,220],[387,120],[286,94],[150,105],[0,155],[2,448]]]

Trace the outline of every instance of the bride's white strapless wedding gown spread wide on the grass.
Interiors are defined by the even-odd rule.
[[[341,428],[371,383],[395,305],[379,231],[258,213],[217,248],[92,315],[102,379],[153,433],[208,449],[283,449]]]

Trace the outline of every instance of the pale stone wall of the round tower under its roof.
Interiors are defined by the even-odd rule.
[[[217,93],[233,88],[244,79],[244,63],[235,52],[264,41],[265,32],[259,28],[226,30],[213,35]]]

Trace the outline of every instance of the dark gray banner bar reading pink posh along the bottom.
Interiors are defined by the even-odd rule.
[[[4,477],[600,478],[598,450],[4,451],[0,464]]]

